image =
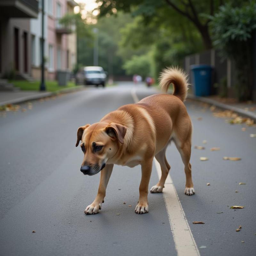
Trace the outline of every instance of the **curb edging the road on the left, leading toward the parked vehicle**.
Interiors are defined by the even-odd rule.
[[[77,85],[76,87],[64,88],[64,89],[60,89],[59,91],[55,91],[55,92],[40,92],[35,95],[30,95],[30,96],[20,97],[18,99],[0,102],[0,106],[4,106],[6,104],[18,104],[18,103],[26,102],[29,100],[38,100],[38,99],[58,95],[59,93],[69,93],[69,92],[81,91],[83,88],[84,88],[84,85]]]

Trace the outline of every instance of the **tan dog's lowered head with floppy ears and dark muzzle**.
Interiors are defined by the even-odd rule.
[[[121,144],[124,144],[126,128],[121,124],[104,122],[86,124],[77,130],[76,147],[79,145],[84,153],[81,172],[94,175],[100,172],[108,159],[115,156]]]

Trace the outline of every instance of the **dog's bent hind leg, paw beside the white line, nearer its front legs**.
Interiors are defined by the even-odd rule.
[[[162,175],[158,183],[150,189],[151,193],[161,193],[163,191],[164,182],[171,169],[171,166],[168,164],[167,159],[165,157],[165,151],[166,151],[166,147],[162,151],[157,153],[155,156],[156,160],[161,166]]]

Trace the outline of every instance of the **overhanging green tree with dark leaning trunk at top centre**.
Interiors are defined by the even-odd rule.
[[[101,0],[97,1],[101,2]],[[202,14],[213,15],[222,4],[222,0],[104,0],[100,6],[100,12],[101,16],[113,14],[116,9],[131,12],[134,16],[142,15],[147,24],[151,22],[152,17],[157,18],[159,15],[162,16],[162,13],[165,15],[162,20],[158,20],[158,23],[161,23],[161,21],[164,23],[166,20],[175,22],[177,17],[180,21],[181,17],[185,17],[186,21],[192,23],[201,35],[204,48],[210,49],[212,48],[209,32],[210,19],[205,18]],[[176,15],[173,15],[173,13],[176,13]],[[181,18],[181,20],[183,19]],[[172,23],[169,23],[169,26],[172,26]]]

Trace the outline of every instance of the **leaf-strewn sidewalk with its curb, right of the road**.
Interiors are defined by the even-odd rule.
[[[256,122],[256,102],[237,103],[232,101],[230,102],[226,101],[224,103],[224,102],[221,102],[222,100],[220,99],[218,100],[214,99],[214,97],[198,97],[193,94],[188,94],[188,99],[197,100],[200,102],[214,105],[220,109],[227,109],[227,110],[236,112],[240,116],[249,117],[252,120],[254,120],[254,122]]]

